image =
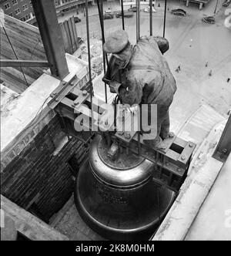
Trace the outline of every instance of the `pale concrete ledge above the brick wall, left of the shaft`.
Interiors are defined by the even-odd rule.
[[[69,82],[75,74],[79,79],[82,79],[88,72],[87,63],[69,54],[66,54],[66,59],[69,66],[69,74],[63,80]],[[8,104],[8,113],[1,113],[1,154],[2,157],[8,156],[8,162],[12,160],[12,157],[15,157],[15,154],[20,153],[26,144],[33,139],[33,136],[39,133],[39,130],[42,130],[42,127],[55,116],[53,110],[51,111],[47,106],[47,103],[51,99],[50,93],[59,86],[59,83],[60,80],[50,76],[48,70],[18,98]],[[40,123],[41,120],[45,120],[45,122]],[[32,131],[32,136],[28,137],[30,131]],[[23,138],[26,139],[26,143],[23,143]],[[17,152],[12,153],[12,147],[15,147],[15,140],[17,140],[17,143],[22,143],[22,147],[19,145]]]

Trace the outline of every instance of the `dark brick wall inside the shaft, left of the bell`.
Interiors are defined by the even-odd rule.
[[[80,166],[89,150],[73,137],[67,140],[59,119],[49,113],[15,138],[1,159],[1,193],[43,221],[59,211],[72,194],[70,159]]]

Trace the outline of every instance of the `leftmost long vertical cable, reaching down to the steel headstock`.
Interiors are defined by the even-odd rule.
[[[89,35],[89,3],[85,0],[85,24],[87,33],[87,46],[88,46],[88,61],[89,61],[89,85],[90,85],[90,97],[91,97],[91,116],[93,120],[93,109],[92,109],[92,67],[91,67],[91,52],[90,52],[90,35]]]

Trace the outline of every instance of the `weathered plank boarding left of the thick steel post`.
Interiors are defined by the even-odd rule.
[[[1,59],[17,59],[5,35],[6,31],[18,59],[46,61],[45,49],[43,48],[42,39],[38,28],[6,15],[5,31],[2,28],[0,30]],[[25,81],[22,76],[22,69],[25,73],[28,84],[30,85],[35,81],[35,79],[38,79],[39,76],[42,75],[44,68],[33,68],[29,66],[22,69],[20,67],[15,67],[14,69],[1,69],[1,77],[2,80],[5,81],[6,85],[14,89],[16,92],[22,93],[22,90],[25,90],[26,88]]]

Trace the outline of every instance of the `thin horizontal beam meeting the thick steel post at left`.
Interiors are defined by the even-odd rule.
[[[21,60],[21,59],[0,59],[1,67],[49,67],[49,62],[41,60]]]

